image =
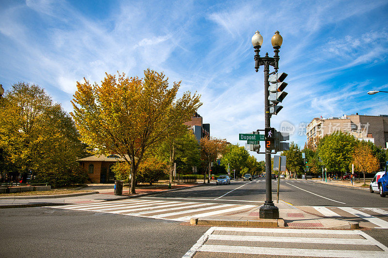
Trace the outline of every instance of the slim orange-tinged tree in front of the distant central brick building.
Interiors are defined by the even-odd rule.
[[[204,181],[205,181],[205,172],[208,171],[210,178],[210,163],[216,162],[217,158],[220,155],[223,155],[226,151],[226,140],[218,139],[216,137],[203,137],[200,140],[201,146],[201,160],[202,167],[204,168]]]

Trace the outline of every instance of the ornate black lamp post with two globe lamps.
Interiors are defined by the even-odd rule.
[[[259,31],[255,32],[252,37],[252,45],[255,48],[255,69],[259,71],[260,65],[264,65],[264,116],[265,116],[265,128],[270,128],[270,101],[268,100],[270,86],[268,78],[270,76],[270,66],[275,69],[274,73],[277,73],[279,69],[279,48],[283,43],[283,38],[280,36],[279,31],[275,32],[275,35],[271,39],[272,46],[274,47],[274,57],[269,57],[268,53],[265,57],[260,57],[260,47],[263,43],[263,37]],[[279,217],[279,209],[274,205],[272,200],[272,182],[271,182],[271,151],[265,150],[265,202],[260,207],[259,217],[264,219],[276,219]]]

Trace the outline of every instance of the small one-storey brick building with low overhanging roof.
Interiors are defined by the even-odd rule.
[[[90,180],[93,183],[108,183],[114,182],[114,172],[111,167],[114,163],[124,161],[124,159],[111,154],[109,156],[93,155],[77,161],[81,167],[88,171]]]

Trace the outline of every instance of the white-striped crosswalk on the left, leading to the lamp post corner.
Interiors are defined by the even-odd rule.
[[[252,208],[257,208],[257,206],[204,202],[126,199],[89,204],[51,206],[51,208],[90,212],[107,212],[175,221],[190,221],[190,218],[193,216],[205,217],[213,215],[227,215],[235,212],[243,212],[245,210],[249,211]]]

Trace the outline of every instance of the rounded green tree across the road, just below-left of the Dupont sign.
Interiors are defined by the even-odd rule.
[[[222,157],[221,164],[225,167],[229,164],[231,170],[236,169],[236,175],[238,176],[245,167],[248,157],[249,153],[244,147],[231,144],[226,148],[226,153]]]

